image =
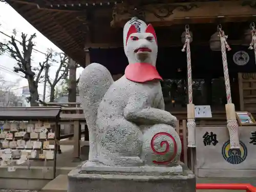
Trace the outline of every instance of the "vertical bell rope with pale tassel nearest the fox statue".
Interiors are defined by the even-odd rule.
[[[192,89],[192,71],[191,71],[191,56],[190,56],[190,34],[188,25],[185,27],[185,44],[181,51],[187,53],[187,83],[188,83],[188,104],[187,104],[187,130],[188,130],[188,147],[196,147],[196,122],[195,122],[195,105],[193,104],[193,89]]]

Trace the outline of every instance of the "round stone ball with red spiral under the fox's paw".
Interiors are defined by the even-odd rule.
[[[155,124],[143,134],[141,159],[146,165],[176,165],[181,148],[180,137],[174,127]]]

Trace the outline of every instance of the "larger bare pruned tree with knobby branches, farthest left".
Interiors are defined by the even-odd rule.
[[[14,67],[14,72],[22,72],[28,80],[30,97],[28,97],[28,101],[31,106],[38,106],[36,102],[39,99],[38,94],[38,83],[44,77],[42,75],[42,71],[48,65],[49,59],[52,57],[52,53],[46,54],[46,59],[44,62],[39,63],[39,67],[32,67],[31,63],[31,54],[33,47],[35,46],[33,40],[36,37],[34,33],[29,38],[27,38],[27,34],[22,33],[22,41],[18,41],[15,39],[16,31],[13,30],[14,36],[11,36],[11,40],[8,43],[0,43],[5,51],[10,53],[10,56],[17,61],[17,66]],[[18,48],[16,42],[19,43],[21,48]]]

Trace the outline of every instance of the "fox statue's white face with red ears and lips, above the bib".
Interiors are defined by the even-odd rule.
[[[157,37],[155,30],[149,24],[145,30],[138,33],[135,25],[131,25],[124,36],[124,52],[131,63],[150,63],[156,66]]]

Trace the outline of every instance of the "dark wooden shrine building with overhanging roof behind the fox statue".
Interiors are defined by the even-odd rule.
[[[228,36],[227,43],[231,48],[230,51],[226,50],[226,55],[232,103],[236,111],[248,111],[256,115],[256,54],[254,49],[248,49],[252,39],[250,27],[254,27],[253,22],[256,23],[255,1],[8,0],[6,2],[82,67],[86,67],[91,62],[98,62],[108,68],[115,79],[124,74],[128,65],[123,51],[124,24],[132,17],[138,17],[147,24],[152,24],[158,41],[156,66],[164,79],[162,91],[165,110],[177,116],[179,120],[187,118],[187,54],[181,50],[184,45],[182,34],[185,26],[188,25],[193,37],[193,41],[190,42],[193,103],[210,105],[212,113],[212,118],[196,119],[197,126],[226,126],[226,88],[220,37],[216,33],[217,26],[221,26]],[[223,130],[227,132],[226,129]],[[218,137],[221,136],[217,134]],[[219,140],[216,146],[220,143]],[[220,145],[222,146],[223,143]],[[202,152],[202,149],[204,148],[197,148],[197,154]],[[222,156],[220,158],[223,159]],[[225,162],[219,169],[226,166]],[[239,165],[242,166],[242,163]],[[208,173],[216,177],[215,172],[211,170],[216,169],[218,164],[209,163],[208,167],[200,166],[197,165],[198,175],[201,174],[202,177],[207,175],[205,169],[208,169]],[[247,166],[241,167],[241,169],[247,168]],[[226,173],[234,174],[234,172]]]

